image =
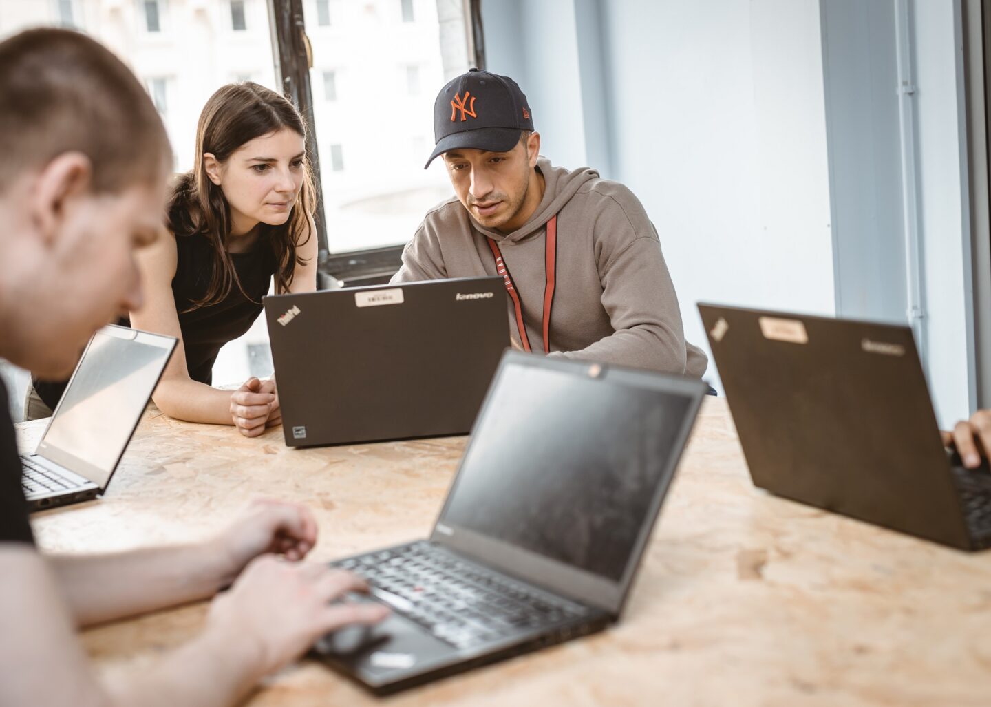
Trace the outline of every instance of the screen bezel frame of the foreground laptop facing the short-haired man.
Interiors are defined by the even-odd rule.
[[[490,412],[495,390],[498,388],[505,371],[515,366],[556,370],[570,375],[586,376],[600,381],[603,385],[636,386],[683,396],[688,399],[689,406],[681,420],[681,426],[675,435],[673,452],[669,455],[665,468],[661,470],[661,482],[657,484],[654,497],[648,506],[644,523],[637,533],[629,559],[618,581],[613,581],[603,575],[569,565],[518,545],[486,536],[478,531],[445,522],[445,514],[457,492],[458,481],[462,474],[465,473],[466,461],[471,458],[470,452],[472,445],[480,435],[485,433],[482,427],[484,426],[487,413]],[[678,468],[678,464],[684,453],[706,390],[706,385],[699,380],[634,371],[606,366],[605,364],[555,360],[533,354],[506,351],[499,363],[498,370],[495,372],[493,383],[486,395],[481,412],[479,412],[476,419],[475,426],[472,429],[471,439],[465,449],[465,454],[462,457],[458,472],[451,482],[447,498],[444,501],[444,507],[441,509],[431,531],[430,540],[449,547],[456,552],[466,554],[510,576],[517,577],[589,606],[598,607],[612,616],[618,616],[628,594],[630,584],[633,581],[636,569],[640,564],[640,558],[650,538],[654,523],[660,515],[661,505],[667,496],[675,470]]]

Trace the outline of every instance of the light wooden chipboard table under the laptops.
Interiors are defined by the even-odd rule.
[[[42,425],[21,425],[29,445]],[[315,511],[329,559],[425,536],[465,438],[290,450],[150,410],[109,493],[35,517],[42,547],[202,537],[250,499]],[[201,627],[206,605],[82,640],[108,676]],[[606,633],[377,699],[317,662],[262,705],[991,705],[991,553],[965,554],[753,488],[732,420],[707,400],[622,621]]]

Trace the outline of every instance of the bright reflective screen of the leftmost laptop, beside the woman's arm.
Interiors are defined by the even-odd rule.
[[[168,337],[140,332],[147,341],[164,342],[159,345],[121,338],[138,334],[105,327],[93,335],[39,446],[46,456],[55,448],[85,462],[81,469],[70,468],[101,487],[130,440],[172,349]]]

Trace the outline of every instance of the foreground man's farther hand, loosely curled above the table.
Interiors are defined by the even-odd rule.
[[[302,559],[316,544],[316,535],[316,519],[305,506],[262,500],[248,507],[211,544],[222,557],[229,582],[261,554]]]

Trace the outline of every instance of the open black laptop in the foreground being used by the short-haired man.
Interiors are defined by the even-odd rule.
[[[392,614],[317,652],[385,693],[606,628],[705,391],[506,352],[430,538],[333,563]]]

